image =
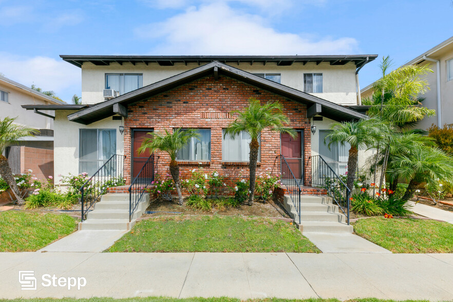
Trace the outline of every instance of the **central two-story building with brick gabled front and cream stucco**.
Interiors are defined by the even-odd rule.
[[[233,140],[223,130],[233,121],[230,112],[253,97],[281,102],[298,130],[296,139],[262,135],[258,172],[269,171],[283,154],[301,183],[310,185],[312,155],[345,171],[347,150],[329,150],[324,137],[333,121],[365,117],[349,106],[357,105],[357,70],[376,56],[62,55],[82,69],[84,104],[46,108],[55,110],[55,175],[93,174],[121,154],[129,182],[147,158],[137,153],[144,136],[177,127],[201,135],[178,153],[183,173],[202,165],[206,172],[247,175],[250,139]],[[166,171],[168,157],[159,156],[159,171]]]

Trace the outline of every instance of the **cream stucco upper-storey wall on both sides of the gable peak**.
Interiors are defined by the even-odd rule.
[[[275,63],[240,63],[233,67],[252,73],[280,73],[281,84],[304,90],[304,73],[323,73],[323,93],[313,95],[337,104],[356,104],[355,64],[330,65],[329,63],[294,63],[291,66],[277,66]],[[84,63],[82,66],[82,102],[94,104],[104,101],[105,73],[142,73],[143,86],[153,84],[173,75],[198,67],[196,63],[176,63],[175,66],[159,66],[157,63],[111,63],[109,66],[96,66]]]

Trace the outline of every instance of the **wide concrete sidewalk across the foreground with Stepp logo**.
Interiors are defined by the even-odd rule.
[[[162,295],[453,300],[453,254],[36,252],[0,253],[0,259],[0,298]],[[21,290],[18,276],[24,270],[33,271],[36,290]],[[68,290],[66,285],[58,286],[58,281],[55,287],[44,287],[43,274],[83,277],[86,285]]]

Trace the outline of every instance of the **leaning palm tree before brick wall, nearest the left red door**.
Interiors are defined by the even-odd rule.
[[[175,182],[176,191],[178,192],[179,204],[183,204],[184,200],[182,199],[181,193],[181,180],[179,179],[179,165],[176,161],[176,154],[179,149],[183,148],[191,138],[199,138],[199,134],[195,129],[182,129],[177,128],[173,133],[165,130],[165,134],[159,134],[156,132],[148,133],[149,138],[143,140],[142,145],[138,149],[139,153],[145,152],[146,149],[149,149],[150,152],[155,150],[161,150],[168,153],[170,156],[170,175],[172,175],[173,181]]]

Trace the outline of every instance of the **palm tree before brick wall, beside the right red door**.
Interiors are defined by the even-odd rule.
[[[283,106],[279,102],[267,102],[261,105],[260,101],[255,98],[249,99],[249,107],[242,111],[236,110],[232,112],[238,114],[238,117],[231,122],[225,129],[225,134],[230,135],[233,139],[239,135],[241,131],[246,131],[250,137],[250,155],[249,155],[249,205],[253,204],[256,182],[256,163],[259,153],[258,139],[261,133],[268,128],[270,131],[275,131],[281,134],[289,134],[296,137],[296,131],[291,127],[286,127],[289,124],[289,119],[283,113]]]

